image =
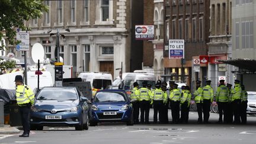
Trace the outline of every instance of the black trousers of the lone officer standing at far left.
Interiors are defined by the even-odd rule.
[[[23,134],[30,133],[30,105],[19,106],[21,123],[23,125]]]

